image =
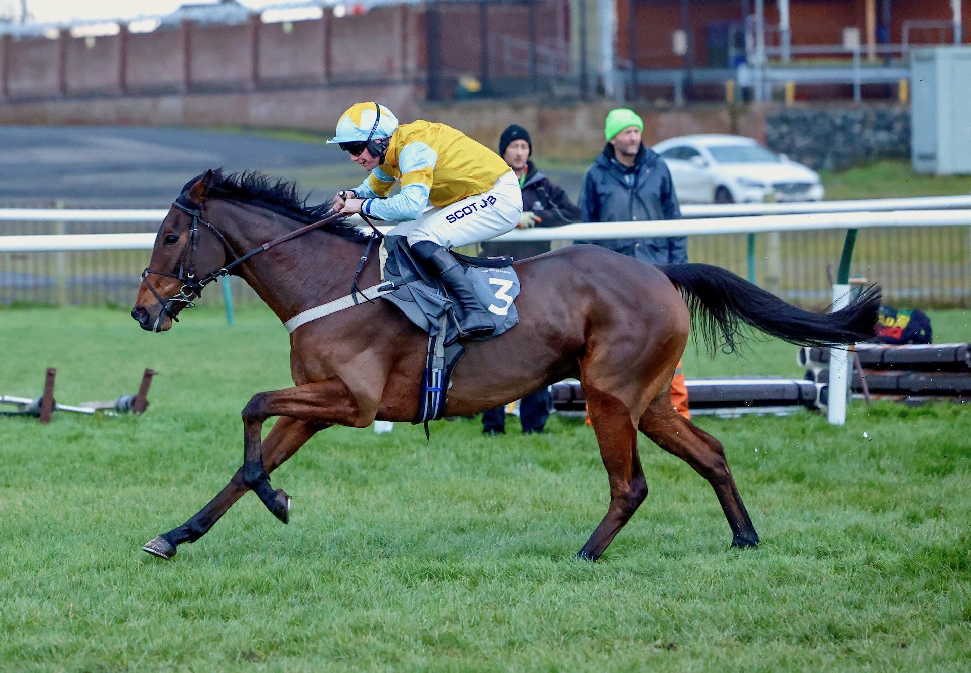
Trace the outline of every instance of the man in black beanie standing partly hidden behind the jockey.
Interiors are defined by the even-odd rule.
[[[560,187],[536,170],[529,159],[532,154],[532,139],[529,131],[513,124],[499,138],[499,155],[519,178],[522,188],[522,215],[518,228],[532,226],[559,226],[580,220],[580,209],[570,201]],[[487,241],[482,244],[483,253],[490,256],[509,254],[517,259],[532,257],[550,252],[549,241],[528,243],[500,243]],[[519,421],[522,432],[543,432],[550,418],[552,397],[549,388],[537,390],[522,398],[519,404]],[[483,413],[483,433],[504,434],[506,432],[506,410],[504,407],[489,409]]]

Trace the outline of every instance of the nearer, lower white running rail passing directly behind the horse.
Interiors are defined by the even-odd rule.
[[[610,238],[638,238],[642,236],[698,236],[705,234],[750,234],[764,231],[961,225],[971,225],[971,209],[889,211],[883,213],[809,213],[803,215],[762,215],[739,218],[567,224],[566,226],[514,229],[508,234],[503,234],[493,240],[600,240]],[[387,227],[382,228],[387,229]],[[154,233],[0,236],[0,252],[151,250],[154,241]]]

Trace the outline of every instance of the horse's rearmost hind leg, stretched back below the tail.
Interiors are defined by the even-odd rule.
[[[715,489],[732,531],[732,547],[754,547],[758,535],[728,469],[721,442],[678,414],[665,391],[651,403],[638,423],[641,432],[669,454],[675,454]]]

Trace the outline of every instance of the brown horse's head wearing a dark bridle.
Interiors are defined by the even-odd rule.
[[[179,312],[229,263],[228,244],[204,215],[213,183],[213,171],[186,183],[162,220],[131,311],[142,329],[171,329]]]

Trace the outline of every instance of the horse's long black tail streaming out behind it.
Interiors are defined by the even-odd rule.
[[[798,346],[840,346],[874,337],[880,286],[870,286],[835,313],[797,309],[731,271],[709,264],[663,264],[659,268],[681,290],[692,328],[710,353],[733,353],[745,339],[742,324]]]

